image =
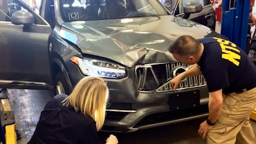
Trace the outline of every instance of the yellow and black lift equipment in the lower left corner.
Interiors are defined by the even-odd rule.
[[[5,89],[0,88],[0,93]],[[8,97],[0,97],[1,113],[0,113],[0,143],[16,144],[20,139],[19,131],[15,130],[14,113],[9,104]]]

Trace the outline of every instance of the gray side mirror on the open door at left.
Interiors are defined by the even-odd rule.
[[[34,23],[34,15],[26,10],[18,10],[12,14],[11,21],[15,25],[23,24],[31,26]]]

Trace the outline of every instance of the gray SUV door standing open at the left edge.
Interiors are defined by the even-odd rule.
[[[51,26],[22,1],[3,0],[0,6],[0,88],[51,89],[47,41]],[[11,15],[27,10],[35,17],[31,28],[12,24]]]

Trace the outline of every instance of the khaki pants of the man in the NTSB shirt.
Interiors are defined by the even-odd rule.
[[[256,108],[256,88],[243,93],[223,94],[223,106],[214,127],[207,133],[207,144],[256,144],[250,114]]]

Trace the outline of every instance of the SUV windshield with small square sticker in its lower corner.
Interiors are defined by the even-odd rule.
[[[65,22],[168,14],[156,0],[63,0],[60,10]]]

